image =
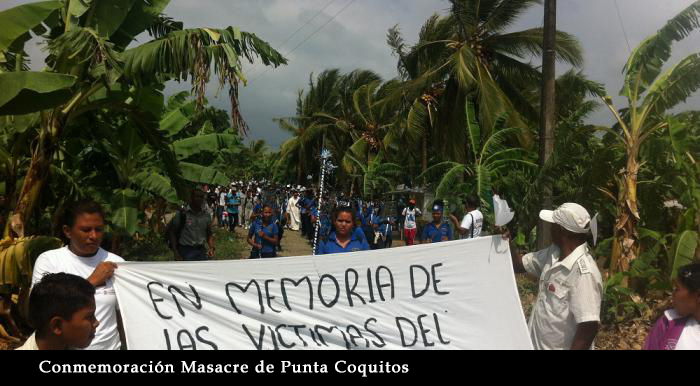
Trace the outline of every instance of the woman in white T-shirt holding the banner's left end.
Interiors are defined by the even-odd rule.
[[[81,201],[66,211],[63,233],[68,246],[42,253],[34,264],[32,285],[49,273],[80,276],[95,287],[95,317],[100,322],[88,350],[119,350],[124,337],[114,270],[124,259],[100,248],[104,235],[104,211],[93,201]]]

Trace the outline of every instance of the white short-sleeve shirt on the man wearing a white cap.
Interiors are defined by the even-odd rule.
[[[556,246],[523,257],[525,270],[539,279],[528,323],[537,350],[568,350],[579,324],[600,322],[603,280],[588,244],[559,257]]]

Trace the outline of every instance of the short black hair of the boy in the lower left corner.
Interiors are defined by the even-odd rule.
[[[29,295],[29,322],[45,332],[51,318],[70,320],[74,313],[95,300],[95,287],[80,276],[51,273],[44,276]]]

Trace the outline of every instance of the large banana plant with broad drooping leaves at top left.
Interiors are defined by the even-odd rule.
[[[0,115],[41,116],[15,209],[20,222],[26,222],[36,206],[66,128],[103,108],[129,115],[145,141],[168,159],[169,175],[184,194],[177,162],[158,127],[163,98],[159,85],[166,80],[190,78],[201,108],[213,72],[221,87],[229,87],[234,127],[245,132],[238,108],[238,87],[246,81],[243,60],[258,57],[265,65],[278,66],[286,59],[255,34],[234,27],[182,29],[182,23],[161,15],[168,3],[46,1],[0,12],[0,24],[7,26],[0,39],[2,70],[21,70],[0,73]],[[24,71],[29,31],[46,42],[45,71]],[[146,31],[154,40],[128,48]],[[15,64],[8,65],[8,58]]]

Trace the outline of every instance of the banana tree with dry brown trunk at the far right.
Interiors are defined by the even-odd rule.
[[[640,252],[637,181],[642,146],[654,133],[668,127],[664,115],[700,88],[700,53],[689,55],[662,73],[671,57],[672,44],[687,37],[698,26],[700,1],[695,1],[632,52],[624,68],[625,82],[621,91],[627,98],[628,108],[618,111],[612,98],[603,98],[618,122],[617,130],[610,132],[624,147],[627,156],[626,167],[619,178],[613,272],[629,271]]]

